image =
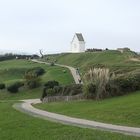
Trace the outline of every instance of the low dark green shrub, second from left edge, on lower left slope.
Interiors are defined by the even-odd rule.
[[[17,93],[19,88],[22,87],[24,84],[22,82],[16,82],[13,83],[12,85],[7,87],[7,90],[11,93]]]

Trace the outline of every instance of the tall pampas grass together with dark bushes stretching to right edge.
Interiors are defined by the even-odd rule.
[[[105,71],[96,72],[95,70],[90,70],[90,73],[86,75],[86,82],[84,82],[83,86],[85,97],[97,100],[124,95],[136,90],[140,90],[139,72],[111,76]]]

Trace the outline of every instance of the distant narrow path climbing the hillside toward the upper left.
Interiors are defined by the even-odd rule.
[[[33,59],[31,60],[32,62],[35,62],[35,63],[40,63],[40,64],[50,64],[50,63],[47,63],[47,62],[43,62],[43,61],[39,61],[39,60],[36,60],[36,59]],[[61,64],[55,64],[56,66],[59,66],[59,67],[64,67],[64,68],[68,68],[74,78],[74,81],[76,84],[79,84],[79,80],[81,79],[79,73],[77,73],[77,70],[71,66],[67,66],[67,65],[61,65]],[[81,82],[82,83],[82,82]]]

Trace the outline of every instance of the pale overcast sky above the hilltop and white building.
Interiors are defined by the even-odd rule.
[[[0,50],[70,50],[75,32],[86,48],[140,52],[140,0],[1,0]]]

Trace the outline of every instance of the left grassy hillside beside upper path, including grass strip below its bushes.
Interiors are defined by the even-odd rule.
[[[23,81],[24,74],[28,69],[34,67],[42,67],[45,69],[46,73],[41,76],[41,83],[56,80],[59,81],[60,84],[67,85],[74,83],[73,77],[71,73],[66,68],[61,68],[58,66],[48,66],[44,64],[38,64],[31,61],[26,60],[8,60],[0,62],[0,83],[5,83],[6,86],[16,82]],[[63,71],[66,71],[64,73]],[[40,98],[42,94],[42,87],[36,88],[33,90],[28,89],[20,89],[17,95],[11,94],[7,92],[7,90],[0,90],[0,100],[15,100],[15,99],[26,99],[26,98]]]

